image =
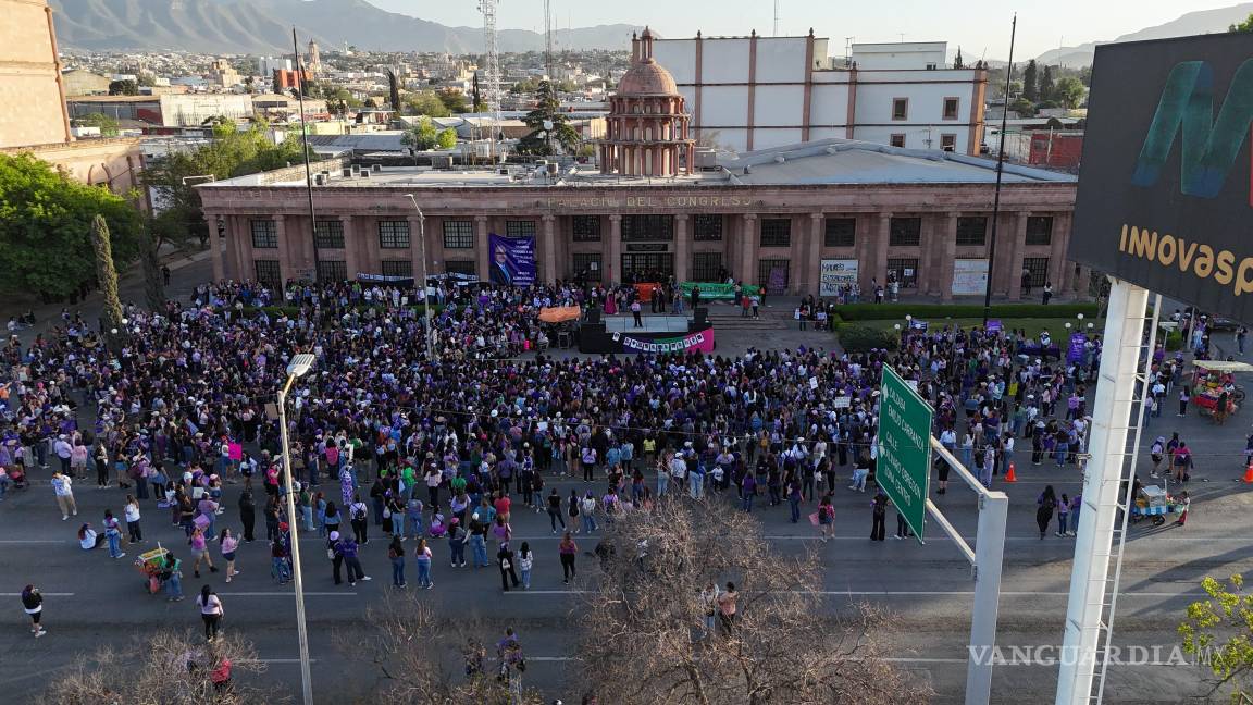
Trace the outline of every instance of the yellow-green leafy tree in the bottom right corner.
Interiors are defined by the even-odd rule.
[[[1200,587],[1209,597],[1188,605],[1178,627],[1183,650],[1214,674],[1208,696],[1230,686],[1232,702],[1253,702],[1253,595],[1244,592],[1244,576],[1239,573],[1225,585],[1207,577]]]

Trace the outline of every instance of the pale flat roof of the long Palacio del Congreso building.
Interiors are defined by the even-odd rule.
[[[309,142],[317,143],[316,138]],[[361,140],[368,142],[368,140]],[[342,142],[335,143],[346,147]],[[323,146],[325,148],[325,146]],[[719,158],[718,169],[679,177],[626,177],[601,174],[595,164],[564,167],[549,177],[538,164],[499,169],[432,169],[430,167],[382,167],[368,177],[343,177],[332,172],[327,186],[336,187],[608,187],[608,186],[836,186],[836,184],[944,184],[994,183],[996,162],[933,149],[902,149],[851,139],[822,139],[787,144]],[[272,172],[278,173],[278,172]],[[1070,183],[1073,174],[1004,166],[1005,183]],[[202,184],[202,188],[232,186],[303,187],[304,178],[271,181],[267,174],[249,174]]]

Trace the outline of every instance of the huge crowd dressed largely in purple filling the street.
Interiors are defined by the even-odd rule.
[[[1055,465],[1059,483],[1080,478],[1096,335],[1069,359],[1021,354],[1017,331],[938,326],[906,330],[897,351],[559,358],[541,307],[613,300],[630,310],[633,290],[437,289],[434,359],[412,290],[351,282],[203,285],[160,311],[128,306],[112,350],[99,322],[69,312],[31,342],[14,336],[0,349],[0,499],[15,478],[50,479],[68,531],[118,559],[154,533],[155,517],[168,521],[185,544],[172,544],[153,587],[174,601],[188,571],[234,580],[237,551],[262,539],[272,578],[291,580],[298,529],[322,542],[315,552],[335,583],[370,580],[366,568],[386,561],[397,590],[410,585],[408,567],[432,588],[436,566],[467,559],[495,567],[506,591],[529,588],[548,561],[569,582],[576,541],[590,552],[595,539],[583,537],[600,523],[673,494],[744,512],[786,506],[824,541],[833,496],[870,488],[870,536],[881,541],[885,365],[935,408],[935,435],[980,482],[1029,462]],[[289,400],[298,497],[287,516],[274,391],[296,352],[316,364]],[[1162,394],[1172,394],[1177,360],[1160,349],[1157,359]],[[944,494],[949,465],[935,472]],[[117,511],[69,523],[84,485],[119,488]],[[1058,536],[1073,536],[1079,507],[1051,488],[1040,497],[1050,518],[1059,512]],[[556,556],[512,539],[523,508],[548,514],[561,536]],[[901,519],[896,534],[908,534]],[[212,640],[223,606],[207,590],[197,602]]]

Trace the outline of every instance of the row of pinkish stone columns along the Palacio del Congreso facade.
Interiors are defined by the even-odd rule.
[[[1004,213],[997,233],[996,262],[994,262],[992,291],[1001,296],[1007,295],[1017,299],[1021,294],[1020,273],[1024,260],[1030,253],[1026,245],[1027,218],[1032,213],[1016,211]],[[1086,289],[1085,270],[1076,267],[1065,260],[1066,238],[1069,232],[1069,213],[1050,213],[1054,218],[1053,238],[1048,250],[1049,272],[1048,280],[1053,282],[1056,294],[1083,291]],[[858,260],[860,281],[863,291],[868,291],[871,281],[886,284],[887,261],[890,257],[916,258],[917,270],[915,277],[917,291],[925,295],[937,295],[942,300],[952,299],[954,262],[959,258],[985,258],[985,246],[959,247],[957,245],[957,218],[959,212],[947,212],[932,216],[921,216],[922,227],[917,246],[891,246],[891,221],[893,213],[873,213],[862,216],[870,221],[867,226],[858,228],[858,237],[853,248],[847,253],[831,253],[828,257],[848,257]],[[264,216],[262,216],[264,217]],[[277,250],[253,250],[251,221],[257,216],[227,216],[226,241],[218,233],[217,215],[207,213],[205,221],[209,226],[209,237],[213,256],[213,277],[223,278],[254,278],[253,262],[258,258],[273,258],[279,262],[282,278],[298,278],[306,276],[313,268],[312,238],[289,236],[298,228],[307,228],[307,221],[298,216],[291,216],[301,222],[288,223],[288,216],[269,216],[274,222],[274,231],[278,237]],[[350,277],[362,270],[362,260],[372,262],[376,258],[386,258],[387,251],[378,251],[377,242],[368,237],[368,233],[357,232],[357,223],[353,216],[331,216],[338,218],[343,227],[346,245],[343,250],[322,250],[323,260],[343,261]],[[786,250],[762,250],[761,228],[757,213],[743,213],[738,218],[729,218],[724,233],[725,257],[724,266],[733,272],[736,278],[749,284],[757,284],[758,262],[761,258],[787,258],[791,260],[791,275],[788,289],[792,292],[817,292],[821,278],[821,261],[823,258],[823,240],[826,213],[809,213],[808,228],[806,228],[803,216],[781,215],[779,217],[792,218],[791,245]],[[422,271],[422,248],[419,246],[419,237],[424,228],[417,216],[406,216],[410,226],[411,247],[407,256],[412,261],[415,276]],[[609,215],[609,233],[601,242],[603,280],[605,282],[621,281],[621,215]],[[540,227],[536,233],[536,263],[539,272],[545,281],[554,281],[563,276],[558,265],[558,232],[556,216],[539,216]],[[479,276],[487,277],[489,272],[489,221],[487,216],[475,216],[475,263]],[[989,228],[991,230],[991,228]],[[690,260],[693,250],[693,237],[689,228],[689,216],[678,213],[674,216],[674,266],[675,277],[685,280],[692,276]],[[426,236],[427,238],[431,235]],[[990,232],[989,232],[990,238]],[[1039,246],[1042,247],[1042,246]],[[1034,250],[1036,256],[1044,256],[1040,248]],[[437,250],[427,240],[427,266],[434,273],[432,252]],[[397,251],[398,253],[400,251]],[[365,256],[365,257],[363,257]],[[367,267],[368,268],[368,267]],[[442,270],[440,270],[442,271]]]

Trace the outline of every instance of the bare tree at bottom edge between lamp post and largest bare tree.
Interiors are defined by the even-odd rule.
[[[350,659],[366,659],[378,676],[375,696],[411,705],[539,705],[521,674],[501,676],[486,625],[441,617],[425,602],[388,596],[366,612],[367,633],[345,635]],[[362,645],[365,647],[362,647]],[[486,646],[485,646],[486,645]],[[524,666],[525,669],[525,666]],[[509,677],[511,676],[511,677]]]

